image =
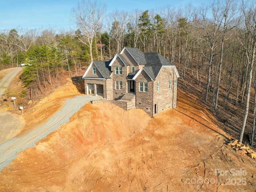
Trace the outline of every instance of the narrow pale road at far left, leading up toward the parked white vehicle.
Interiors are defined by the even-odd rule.
[[[20,72],[22,70],[21,67],[17,67],[14,68],[13,70],[11,70],[8,74],[6,74],[6,76],[4,76],[1,80],[0,80],[0,99],[2,98],[4,92],[6,91],[6,89],[9,87],[10,83],[12,82],[12,80],[14,79],[14,77],[18,74],[18,72]]]

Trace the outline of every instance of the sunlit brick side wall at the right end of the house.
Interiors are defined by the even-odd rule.
[[[174,88],[174,80],[177,80],[176,88]],[[169,89],[169,80],[171,80],[171,88]],[[157,82],[159,82],[159,92],[157,92]],[[177,106],[177,87],[178,78],[173,67],[163,67],[157,79],[154,81],[154,99],[153,107],[157,104],[157,113],[168,108],[176,108]],[[153,114],[154,115],[154,114]]]

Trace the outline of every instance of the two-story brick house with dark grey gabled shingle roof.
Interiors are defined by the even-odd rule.
[[[92,61],[82,78],[85,94],[132,102],[129,108],[143,109],[153,117],[176,108],[179,77],[176,66],[160,54],[125,47],[109,61]]]

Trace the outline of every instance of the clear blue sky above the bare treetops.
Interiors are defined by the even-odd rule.
[[[199,6],[209,0],[98,0],[107,4],[106,12],[113,10],[151,10],[166,5]],[[81,0],[0,0],[0,31],[16,28],[74,28],[71,10]]]

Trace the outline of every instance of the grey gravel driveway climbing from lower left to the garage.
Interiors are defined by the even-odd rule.
[[[18,138],[12,138],[0,145],[0,171],[8,166],[16,158],[16,155],[22,150],[33,147],[36,142],[45,138],[48,134],[66,124],[69,118],[91,100],[98,100],[100,96],[76,96],[66,100],[65,106],[58,111],[52,118],[38,128],[24,134]]]

